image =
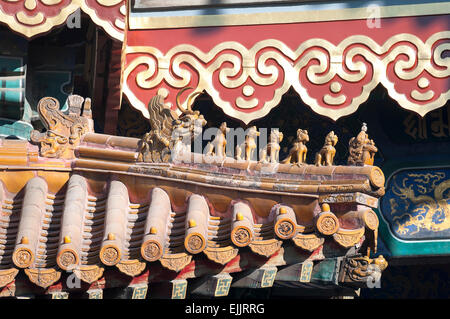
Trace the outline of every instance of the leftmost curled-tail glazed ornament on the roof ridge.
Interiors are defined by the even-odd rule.
[[[81,136],[92,130],[90,100],[86,99],[84,104],[85,115],[80,114],[81,105],[73,105],[69,108],[69,114],[64,114],[59,109],[58,100],[52,97],[41,99],[37,109],[47,131],[40,133],[34,130],[30,138],[32,142],[39,144],[40,155],[51,158],[74,158],[74,150]]]

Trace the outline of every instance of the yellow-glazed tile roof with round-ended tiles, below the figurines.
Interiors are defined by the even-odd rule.
[[[43,288],[71,272],[92,284],[111,267],[158,282],[173,278],[167,272],[198,278],[211,269],[233,273],[376,249],[372,208],[384,178],[375,167],[281,164],[279,176],[297,187],[280,182],[276,189],[269,177],[262,181],[257,163],[209,164],[209,179],[195,163],[138,163],[137,142],[88,133],[76,157],[65,160],[43,158],[26,141],[2,140],[3,286],[14,269]],[[227,188],[215,174],[241,176],[242,185]]]

